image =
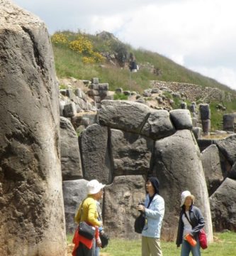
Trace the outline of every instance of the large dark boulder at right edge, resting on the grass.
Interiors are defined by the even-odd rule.
[[[236,181],[226,178],[217,191],[210,196],[213,229],[236,231]]]

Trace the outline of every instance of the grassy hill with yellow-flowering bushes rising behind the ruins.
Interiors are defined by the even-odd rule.
[[[59,78],[74,77],[79,80],[91,80],[96,77],[100,82],[108,82],[109,90],[116,90],[117,87],[130,90],[132,79],[132,90],[140,93],[150,88],[150,80],[186,82],[200,87],[217,87],[236,95],[235,90],[212,78],[184,68],[158,53],[135,49],[122,43],[111,33],[90,35],[62,31],[53,34],[51,40]],[[135,56],[140,66],[137,73],[131,74],[128,68],[130,54]],[[231,102],[211,102],[213,130],[222,128],[224,113],[236,111],[235,98],[232,97]],[[227,110],[225,112],[215,110],[215,105],[218,103],[225,105]]]

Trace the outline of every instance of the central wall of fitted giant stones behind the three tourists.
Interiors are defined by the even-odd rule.
[[[208,239],[213,240],[201,153],[191,129],[189,110],[168,112],[139,102],[103,100],[98,121],[79,136],[83,178],[63,181],[67,232],[74,231],[72,220],[85,196],[86,181],[97,178],[107,184],[103,220],[108,233],[113,238],[138,238],[133,230],[136,206],[145,198],[147,176],[157,176],[166,202],[162,238],[175,238],[179,196],[189,189],[206,217]]]

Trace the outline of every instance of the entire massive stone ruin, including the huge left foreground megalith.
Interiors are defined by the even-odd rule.
[[[189,110],[103,100],[78,140],[78,120],[60,117],[44,23],[0,3],[0,255],[66,255],[66,233],[74,232],[92,178],[107,185],[103,223],[111,238],[140,238],[133,223],[147,176],[159,178],[166,203],[164,240],[175,239],[186,189],[203,211],[209,241],[213,228],[235,230],[235,134],[197,143]]]

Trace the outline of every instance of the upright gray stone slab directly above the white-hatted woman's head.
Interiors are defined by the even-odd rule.
[[[108,149],[108,129],[92,124],[79,136],[84,178],[96,178],[103,183],[111,183],[111,158]]]

